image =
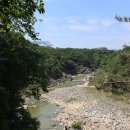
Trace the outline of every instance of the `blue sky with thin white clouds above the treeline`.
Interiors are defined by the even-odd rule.
[[[39,38],[54,47],[122,48],[130,42],[130,23],[117,15],[130,16],[130,0],[44,0],[45,14],[35,29]]]

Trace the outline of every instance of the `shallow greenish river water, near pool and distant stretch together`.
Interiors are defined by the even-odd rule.
[[[57,88],[64,88],[83,84],[84,77],[85,75],[82,74],[77,75],[73,78],[74,80],[66,81],[61,86],[49,88],[49,91],[54,91]],[[32,117],[38,118],[40,122],[40,130],[63,130],[63,123],[60,123],[55,120],[56,116],[61,111],[59,105],[42,101],[35,101],[33,102],[33,105],[29,105],[28,109]]]

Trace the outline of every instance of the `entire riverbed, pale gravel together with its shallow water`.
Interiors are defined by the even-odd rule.
[[[76,77],[72,86],[67,81],[41,95],[42,102],[30,111],[41,122],[40,129],[63,130],[80,122],[82,130],[130,130],[130,105],[110,100],[84,79]]]

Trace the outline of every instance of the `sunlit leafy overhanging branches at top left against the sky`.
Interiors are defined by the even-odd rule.
[[[43,0],[0,0],[0,32],[16,31],[37,39],[36,11],[45,12]]]

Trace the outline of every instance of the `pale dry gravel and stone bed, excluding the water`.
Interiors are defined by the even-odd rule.
[[[55,120],[65,126],[80,122],[83,130],[130,130],[130,105],[91,93],[88,81],[42,94],[41,100],[60,106]],[[70,128],[72,129],[72,128]]]

